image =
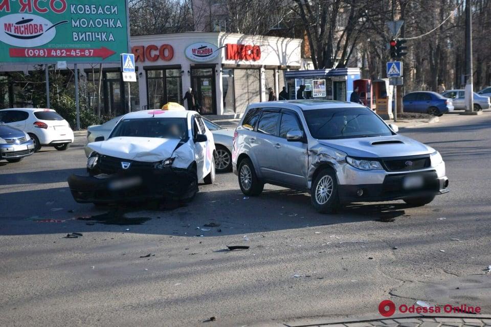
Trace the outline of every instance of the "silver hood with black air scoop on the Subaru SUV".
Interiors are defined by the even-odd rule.
[[[387,141],[400,141],[401,143],[376,144]],[[400,157],[430,154],[435,152],[433,148],[417,142],[412,138],[402,135],[324,140],[320,139],[319,143],[337,150],[341,150],[348,155],[354,157]]]

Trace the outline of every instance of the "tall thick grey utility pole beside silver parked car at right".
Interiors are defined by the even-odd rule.
[[[474,111],[474,81],[472,78],[472,1],[465,1],[465,112],[463,114],[481,114]]]

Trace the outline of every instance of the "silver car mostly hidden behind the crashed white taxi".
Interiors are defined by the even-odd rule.
[[[109,137],[109,134],[121,120],[123,116],[118,116],[105,122],[102,125],[93,125],[87,128],[87,144],[95,142],[96,137],[103,136],[104,139]],[[232,139],[234,130],[222,128],[219,125],[203,118],[206,127],[213,134],[215,140],[215,171],[218,173],[228,172],[232,169]],[[85,145],[85,156],[88,157],[92,153],[92,149]]]

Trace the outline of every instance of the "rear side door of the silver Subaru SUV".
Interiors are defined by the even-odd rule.
[[[276,151],[280,138],[279,132],[280,109],[263,108],[256,126],[255,146],[251,147],[261,176],[265,179],[278,180],[276,174]],[[252,140],[251,140],[252,141]]]

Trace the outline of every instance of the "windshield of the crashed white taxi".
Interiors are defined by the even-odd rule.
[[[116,125],[109,137],[187,138],[185,118],[124,119]]]

